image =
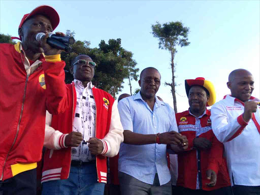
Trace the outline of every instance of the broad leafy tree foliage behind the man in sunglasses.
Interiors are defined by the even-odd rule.
[[[75,36],[75,32],[67,30],[68,36]],[[70,64],[74,57],[79,54],[86,54],[96,62],[95,74],[92,83],[112,96],[118,94],[123,88],[123,80],[131,78],[137,80],[137,72],[135,66],[137,62],[132,58],[133,53],[121,47],[121,39],[110,39],[108,43],[101,40],[99,48],[90,48],[89,41],[78,41],[72,45],[71,53],[62,53],[61,59],[66,61],[66,83],[73,81],[70,74]]]

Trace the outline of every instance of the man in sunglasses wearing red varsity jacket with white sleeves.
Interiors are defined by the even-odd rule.
[[[79,55],[71,64],[69,109],[46,115],[42,194],[103,195],[107,157],[117,155],[123,128],[112,96],[91,83],[95,62]]]

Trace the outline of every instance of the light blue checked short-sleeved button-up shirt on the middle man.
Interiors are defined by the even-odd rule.
[[[159,101],[156,96],[155,100],[153,111],[142,99],[140,92],[121,100],[118,103],[118,110],[124,130],[145,135],[178,132],[172,107]],[[121,143],[118,171],[148,184],[153,184],[155,173],[157,173],[160,185],[168,183],[171,175],[167,167],[166,146],[165,144]]]

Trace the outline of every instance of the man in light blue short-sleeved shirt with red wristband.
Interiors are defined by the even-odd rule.
[[[155,95],[160,78],[157,69],[144,69],[140,92],[118,103],[124,129],[118,171],[124,195],[172,195],[166,147],[182,151],[188,146],[186,137],[178,133],[173,108]]]

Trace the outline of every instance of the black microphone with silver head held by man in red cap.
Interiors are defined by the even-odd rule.
[[[35,38],[39,43],[41,43],[43,36],[45,36],[45,33],[39,32]],[[56,34],[50,32],[49,37],[47,38],[47,43],[56,49],[61,49],[68,53],[71,51],[71,47],[69,45],[74,44],[75,39],[73,37],[57,36]]]

